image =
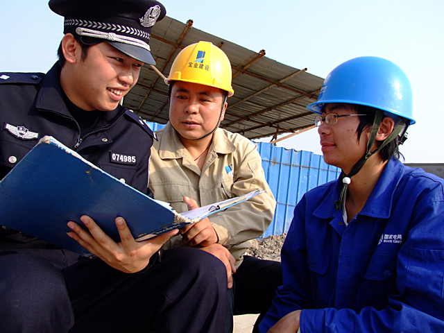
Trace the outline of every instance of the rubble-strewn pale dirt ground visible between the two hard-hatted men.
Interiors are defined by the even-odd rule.
[[[259,259],[275,260],[280,262],[280,249],[287,234],[279,236],[269,236],[251,241],[251,247],[247,250],[247,255],[252,255]],[[255,325],[258,314],[245,314],[234,316],[233,333],[251,333]]]

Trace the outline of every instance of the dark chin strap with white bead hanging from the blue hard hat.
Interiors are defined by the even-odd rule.
[[[342,180],[342,189],[341,189],[341,196],[339,197],[339,200],[334,201],[334,205],[336,206],[336,210],[341,210],[341,207],[343,206],[344,200],[345,200],[345,194],[347,194],[348,191],[348,185],[350,184],[352,176],[355,176],[361,169],[364,167],[364,164],[366,164],[367,160],[372,156],[373,154],[380,151],[388,142],[393,141],[400,135],[401,140],[400,144],[404,143],[405,139],[405,131],[407,130],[407,127],[409,127],[410,120],[406,118],[401,118],[400,122],[396,127],[393,129],[393,131],[386,137],[386,139],[381,143],[381,145],[375,149],[375,151],[370,152],[370,149],[373,147],[373,144],[375,144],[377,131],[379,130],[379,126],[381,125],[382,118],[384,117],[384,111],[377,109],[375,114],[375,120],[373,121],[372,130],[370,131],[370,137],[368,137],[367,142],[367,149],[366,154],[361,157],[361,159],[356,162],[356,164],[352,167],[352,170],[348,175],[345,174],[344,171],[341,172],[341,180]]]

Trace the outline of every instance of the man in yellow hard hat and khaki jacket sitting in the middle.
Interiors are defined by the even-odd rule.
[[[191,44],[178,54],[165,80],[169,123],[153,144],[149,187],[155,199],[178,212],[266,190],[182,228],[164,245],[195,246],[219,257],[227,268],[228,288],[234,284],[234,314],[257,314],[268,310],[282,284],[280,263],[244,253],[250,239],[260,237],[271,223],[276,202],[255,144],[219,128],[227,98],[234,94],[231,77],[230,60],[210,42]]]

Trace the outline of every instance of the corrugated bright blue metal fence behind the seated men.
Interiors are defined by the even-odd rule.
[[[152,130],[164,128],[159,123],[146,123]],[[338,178],[341,170],[326,164],[321,155],[309,151],[295,151],[266,142],[256,145],[262,157],[266,180],[278,202],[273,222],[263,235],[268,237],[287,232],[294,207],[305,192]]]

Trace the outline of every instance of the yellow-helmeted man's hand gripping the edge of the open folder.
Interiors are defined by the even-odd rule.
[[[188,210],[195,210],[198,208],[196,200],[194,199],[184,196],[183,201],[187,204]],[[191,246],[210,246],[219,241],[219,237],[207,217],[194,224],[180,228],[179,232],[182,234],[183,241],[189,243]]]

